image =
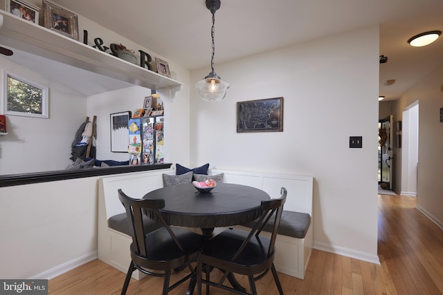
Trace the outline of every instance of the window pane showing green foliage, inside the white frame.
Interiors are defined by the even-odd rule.
[[[8,75],[8,111],[42,115],[43,91]]]

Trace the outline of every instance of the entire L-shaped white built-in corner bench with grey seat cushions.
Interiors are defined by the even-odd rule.
[[[127,225],[126,213],[118,200],[118,189],[142,198],[145,193],[163,187],[162,174],[175,174],[174,169],[146,171],[134,175],[114,175],[100,179],[98,212],[98,258],[105,263],[127,272],[131,261],[129,245],[132,238]],[[226,183],[244,184],[257,187],[269,193],[271,198],[278,198],[280,188],[288,191],[287,201],[275,242],[275,267],[278,272],[305,278],[305,271],[312,251],[312,186],[313,178],[300,175],[282,175],[272,173],[251,173],[242,171],[222,171],[210,169],[210,175],[224,173]],[[150,230],[159,225],[152,220],[145,220]],[[244,226],[237,226],[242,228]],[[245,229],[245,228],[244,228]],[[215,233],[225,230],[216,229]],[[269,229],[268,229],[269,230]],[[262,234],[269,234],[262,232]],[[137,280],[143,278],[140,272],[132,275]]]

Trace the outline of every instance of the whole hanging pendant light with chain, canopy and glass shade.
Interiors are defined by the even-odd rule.
[[[229,88],[229,83],[224,82],[217,73],[214,71],[214,23],[215,12],[220,8],[220,0],[206,0],[206,8],[210,10],[213,15],[213,28],[211,29],[211,38],[213,39],[213,55],[210,58],[211,72],[195,84],[195,87],[199,90],[199,95],[206,102],[219,102],[226,96],[226,91]]]

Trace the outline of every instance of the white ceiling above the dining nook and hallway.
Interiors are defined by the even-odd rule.
[[[211,15],[204,0],[53,0],[192,70],[210,70]],[[379,94],[398,99],[443,62],[443,36],[413,48],[407,40],[443,30],[441,0],[221,0],[215,14],[217,63],[380,24]],[[395,84],[385,86],[387,80]],[[443,81],[442,81],[443,84]]]

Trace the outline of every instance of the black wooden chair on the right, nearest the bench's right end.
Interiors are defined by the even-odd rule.
[[[206,294],[209,294],[210,286],[227,289],[239,294],[249,294],[246,293],[244,288],[230,287],[224,284],[226,278],[233,274],[248,276],[249,287],[251,288],[250,294],[257,294],[255,280],[263,278],[269,272],[269,269],[273,274],[278,292],[280,295],[283,294],[273,260],[275,238],[277,237],[277,229],[286,196],[287,190],[282,187],[280,198],[262,201],[262,215],[255,220],[255,225],[253,225],[251,231],[227,229],[206,242],[197,255],[197,294],[201,294],[201,283],[206,284]],[[260,232],[270,218],[274,220],[273,230],[271,237],[266,238],[261,236]],[[216,267],[224,273],[218,282],[210,280],[210,269],[212,267]],[[206,273],[206,279],[202,278],[202,272]]]

